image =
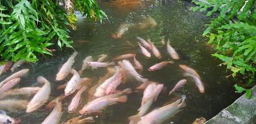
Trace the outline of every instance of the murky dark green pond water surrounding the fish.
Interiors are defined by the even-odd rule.
[[[168,87],[168,90],[173,88],[180,79],[184,79],[183,71],[179,68],[179,64],[186,64],[196,69],[201,75],[202,81],[205,82],[206,92],[204,94],[200,94],[192,80],[188,78],[188,82],[184,88],[171,96],[160,94],[158,100],[151,105],[149,111],[153,108],[163,106],[165,102],[168,102],[176,95],[186,94],[187,106],[183,108],[183,111],[169,118],[164,123],[192,123],[199,117],[205,117],[208,120],[239,97],[238,94],[234,93],[234,88],[232,87],[234,82],[225,78],[229,73],[226,72],[224,67],[217,66],[217,64],[220,64],[220,61],[211,56],[211,53],[214,51],[207,47],[206,40],[201,37],[205,29],[204,25],[207,24],[209,18],[204,16],[204,14],[190,11],[189,8],[193,6],[192,4],[184,1],[150,1],[142,2],[135,9],[120,9],[110,6],[109,3],[107,1],[100,2],[101,9],[106,12],[109,19],[104,20],[102,24],[88,22],[78,14],[78,30],[71,32],[71,38],[74,41],[73,47],[78,51],[78,56],[75,58],[75,69],[80,69],[82,60],[89,55],[97,59],[98,55],[107,54],[107,61],[111,61],[111,58],[116,55],[136,53],[137,60],[145,68],[145,71],[141,72],[141,75],[151,81],[163,83]],[[110,34],[116,32],[120,24],[124,22],[137,24],[148,16],[156,20],[158,23],[156,27],[145,30],[130,30],[119,40],[114,40],[110,37]],[[151,41],[159,48],[163,58],[161,60],[155,57],[147,59],[141,55],[136,43],[136,36],[143,38],[149,36]],[[173,65],[149,73],[146,71],[149,66],[160,61],[172,60],[166,51],[166,45],[161,45],[160,41],[162,38],[171,40],[171,45],[176,48],[179,56],[181,56],[181,60],[174,60]],[[129,45],[126,42],[127,40],[134,46]],[[52,58],[42,59],[34,64],[24,64],[19,69],[29,68],[31,71],[26,77],[22,78],[18,87],[38,86],[39,84],[36,83],[36,78],[38,76],[44,76],[52,85],[50,100],[64,93],[64,91],[55,90],[57,86],[65,82],[56,82],[55,76],[60,66],[67,61],[67,58],[69,58],[72,52],[70,49],[64,49],[57,51]],[[94,71],[87,69],[83,73],[83,77],[99,79],[105,73],[105,69]],[[9,74],[7,73],[2,76],[1,80],[9,76]],[[92,82],[91,86],[96,82],[97,80]],[[128,81],[127,84],[120,87],[133,87],[136,84],[138,82]],[[128,95],[127,103],[108,107],[98,118],[95,118],[95,123],[128,123],[128,117],[137,113],[142,96],[143,92]],[[87,94],[83,94],[82,105],[87,103],[87,98]],[[72,117],[77,117],[78,115],[78,113],[67,113],[69,103],[70,99],[64,100],[63,102],[64,115],[62,116],[61,122]],[[26,113],[22,110],[7,112],[11,117],[21,118],[22,123],[33,124],[43,122],[49,113],[50,110],[45,110],[44,106],[33,113]]]

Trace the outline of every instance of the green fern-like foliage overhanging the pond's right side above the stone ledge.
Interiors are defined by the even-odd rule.
[[[255,81],[256,63],[256,5],[254,0],[193,0],[197,6],[193,11],[207,11],[211,24],[203,35],[209,37],[209,44],[217,52],[216,58],[224,61],[232,76],[238,74],[246,77],[246,84]],[[237,88],[239,86],[235,86]],[[242,87],[241,87],[242,88]],[[240,88],[240,89],[241,89]],[[239,92],[242,92],[240,90]],[[244,91],[246,91],[244,89]],[[250,91],[246,91],[250,97]]]

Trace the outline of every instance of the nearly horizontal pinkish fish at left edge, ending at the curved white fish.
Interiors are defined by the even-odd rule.
[[[41,87],[22,87],[20,89],[9,89],[8,91],[2,92],[0,94],[0,99],[7,97],[9,95],[32,95],[36,94]]]

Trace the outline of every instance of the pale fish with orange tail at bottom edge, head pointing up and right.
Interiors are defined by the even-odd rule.
[[[156,101],[159,93],[163,90],[163,84],[149,84],[145,91],[143,92],[143,98],[141,101],[141,107],[138,109],[140,111],[137,115],[129,117],[130,124],[138,123],[140,117],[145,115],[149,107]]]

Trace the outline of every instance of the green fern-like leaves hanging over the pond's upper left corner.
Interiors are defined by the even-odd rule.
[[[73,1],[66,12],[52,0],[0,1],[0,56],[1,60],[19,59],[35,62],[40,54],[52,55],[47,47],[70,47],[69,29],[75,29],[77,9],[89,20],[102,21],[105,13],[95,0]]]

